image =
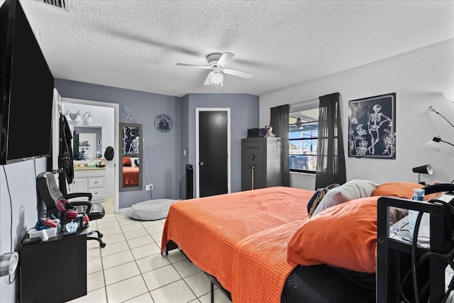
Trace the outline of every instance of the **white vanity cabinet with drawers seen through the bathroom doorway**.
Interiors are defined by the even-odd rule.
[[[106,167],[74,168],[74,180],[70,192],[91,192],[92,202],[104,202],[106,199]]]

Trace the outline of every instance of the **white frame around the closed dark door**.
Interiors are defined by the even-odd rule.
[[[199,113],[201,111],[225,111],[227,114],[227,193],[231,192],[231,109],[196,108],[196,198],[200,197],[200,150],[199,150]]]

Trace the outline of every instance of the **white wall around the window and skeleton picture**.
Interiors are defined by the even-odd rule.
[[[348,155],[348,101],[396,92],[396,160],[346,156],[347,180],[418,182],[411,168],[431,164],[433,175],[421,175],[421,181],[451,182],[454,148],[447,144],[441,145],[441,150],[423,147],[433,136],[454,143],[454,128],[428,110],[433,105],[454,123],[454,104],[442,94],[450,87],[454,87],[454,39],[262,96],[260,125],[269,123],[270,108],[274,106],[339,92],[344,150]],[[314,176],[292,174],[291,178],[292,187],[314,189]]]

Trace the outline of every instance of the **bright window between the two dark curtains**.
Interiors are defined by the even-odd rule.
[[[289,169],[315,174],[319,108],[291,111],[289,116]]]

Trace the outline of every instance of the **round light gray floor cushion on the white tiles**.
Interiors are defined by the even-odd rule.
[[[169,212],[170,204],[178,200],[154,199],[133,204],[128,215],[133,219],[150,221],[164,219]]]

